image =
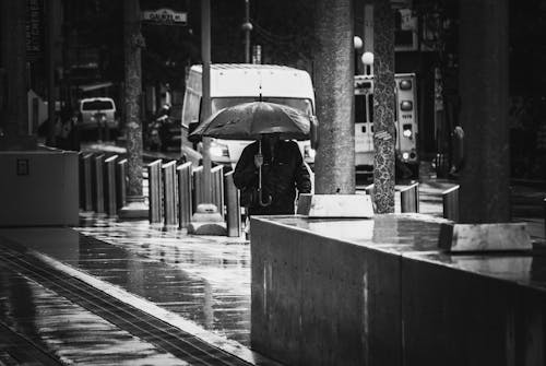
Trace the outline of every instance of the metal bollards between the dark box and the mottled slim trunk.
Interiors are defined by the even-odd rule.
[[[116,216],[126,204],[127,160],[80,153],[80,209]]]

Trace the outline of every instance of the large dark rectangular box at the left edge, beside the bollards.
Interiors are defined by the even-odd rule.
[[[78,225],[78,169],[75,152],[0,152],[0,226]]]

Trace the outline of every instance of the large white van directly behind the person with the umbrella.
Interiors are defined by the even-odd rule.
[[[201,97],[202,67],[190,68],[186,80],[181,117],[181,143],[190,144],[188,134],[202,122]],[[215,63],[211,64],[212,114],[237,104],[272,102],[288,105],[314,115],[314,92],[309,73],[304,70],[273,64]],[[211,161],[216,164],[234,166],[239,156],[252,141],[213,139]],[[309,141],[298,142],[306,163],[314,162],[314,151]],[[182,146],[183,149],[183,146]]]

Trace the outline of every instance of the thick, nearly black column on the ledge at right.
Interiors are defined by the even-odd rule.
[[[508,1],[460,3],[461,222],[510,221]]]

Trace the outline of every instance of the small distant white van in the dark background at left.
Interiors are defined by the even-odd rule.
[[[116,121],[116,104],[112,98],[93,97],[80,101],[82,120],[80,128],[83,130],[97,129],[98,126],[108,127],[110,130],[118,128]],[[97,120],[100,118],[100,120]]]

